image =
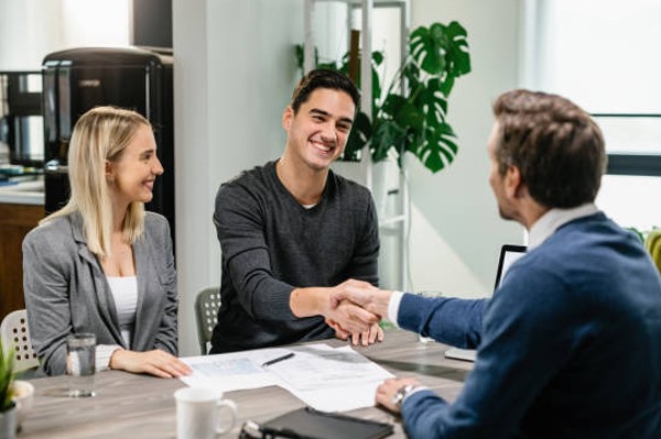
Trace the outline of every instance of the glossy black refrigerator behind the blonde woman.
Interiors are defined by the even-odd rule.
[[[154,128],[165,172],[145,208],[167,218],[174,238],[172,53],[138,47],[80,47],[46,55],[43,73],[46,213],[68,199],[67,153],[78,118],[98,106],[138,111]],[[174,242],[174,239],[173,239]]]

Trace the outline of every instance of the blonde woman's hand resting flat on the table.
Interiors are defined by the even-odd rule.
[[[110,356],[110,369],[149,373],[162,378],[178,378],[193,372],[186,363],[160,349],[148,352],[118,349]]]

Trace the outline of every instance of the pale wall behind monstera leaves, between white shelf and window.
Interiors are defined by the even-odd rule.
[[[432,175],[418,160],[411,175],[411,277],[414,289],[485,296],[494,288],[502,243],[520,243],[521,227],[502,221],[487,182],[491,102],[518,85],[520,0],[413,0],[411,29],[458,21],[468,33],[473,72],[457,80],[449,123],[459,153]]]

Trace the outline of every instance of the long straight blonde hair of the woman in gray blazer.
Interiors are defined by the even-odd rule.
[[[89,251],[111,255],[112,205],[106,179],[106,161],[119,160],[136,132],[149,121],[136,111],[97,107],[78,119],[68,150],[68,179],[72,196],[58,211],[41,223],[78,212],[83,217]],[[144,204],[132,201],[122,221],[122,233],[131,244],[144,229]]]

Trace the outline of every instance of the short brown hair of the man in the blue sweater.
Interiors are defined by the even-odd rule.
[[[606,169],[599,127],[574,102],[540,91],[508,91],[494,103],[496,161],[521,172],[531,197],[549,208],[595,200]]]

